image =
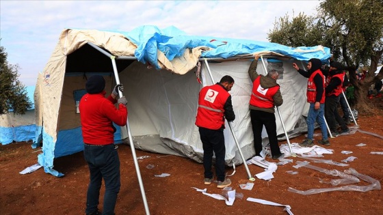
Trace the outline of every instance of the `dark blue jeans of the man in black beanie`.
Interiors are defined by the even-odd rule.
[[[86,197],[86,214],[96,212],[101,182],[105,182],[103,214],[114,214],[120,191],[120,159],[114,144],[93,146],[84,144],[84,158],[88,162],[90,183]]]

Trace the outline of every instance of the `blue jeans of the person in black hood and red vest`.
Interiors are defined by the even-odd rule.
[[[306,119],[307,123],[307,139],[313,140],[314,137],[314,123],[318,122],[319,127],[321,128],[323,140],[327,140],[327,128],[326,123],[324,122],[324,104],[319,105],[319,109],[314,109],[315,103],[310,103],[310,109],[308,109],[308,115]]]

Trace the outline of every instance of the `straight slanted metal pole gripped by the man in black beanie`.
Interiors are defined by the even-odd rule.
[[[118,77],[118,71],[117,71],[117,66],[116,66],[116,59],[115,59],[114,56],[111,56],[111,63],[113,65],[114,78],[116,78],[116,83],[120,84],[120,78]],[[122,97],[122,92],[121,91],[118,91],[118,96],[120,96],[120,98]],[[146,201],[144,184],[142,184],[142,177],[141,177],[141,173],[140,173],[140,167],[138,166],[137,156],[135,155],[135,148],[134,148],[133,138],[132,138],[131,129],[130,129],[130,126],[129,126],[129,117],[127,117],[126,128],[128,130],[129,143],[130,143],[130,146],[131,146],[131,152],[132,152],[133,161],[134,161],[134,165],[135,165],[135,171],[137,172],[138,183],[140,184],[142,201],[144,201],[145,212],[146,212],[146,214],[150,214],[149,207],[148,207],[148,202]]]

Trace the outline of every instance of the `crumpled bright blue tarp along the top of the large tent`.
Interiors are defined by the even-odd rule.
[[[122,33],[137,45],[135,57],[137,57],[138,61],[142,63],[148,61],[157,69],[160,68],[157,63],[157,48],[170,61],[175,57],[183,55],[185,49],[196,48],[198,46],[213,48],[211,51],[202,52],[201,57],[206,58],[221,57],[227,59],[236,55],[246,55],[262,51],[280,53],[300,61],[318,58],[326,62],[331,57],[330,48],[323,47],[323,51],[317,51],[321,46],[292,48],[272,42],[186,35],[185,32],[173,26],[161,30],[152,25],[144,25],[133,29],[129,33],[119,33]]]

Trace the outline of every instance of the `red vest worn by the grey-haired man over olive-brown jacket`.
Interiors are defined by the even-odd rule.
[[[279,85],[263,89],[260,84],[261,76],[255,78],[252,84],[252,94],[250,96],[250,105],[259,107],[261,109],[269,109],[274,107],[273,96],[279,89]]]

